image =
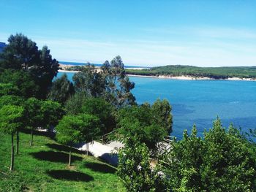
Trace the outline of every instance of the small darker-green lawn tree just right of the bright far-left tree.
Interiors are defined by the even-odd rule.
[[[34,128],[42,126],[43,113],[41,110],[42,101],[29,98],[24,104],[26,113],[26,126],[31,129],[30,146],[33,145]]]

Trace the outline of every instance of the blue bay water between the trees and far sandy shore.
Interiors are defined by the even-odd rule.
[[[60,76],[61,73],[58,74]],[[67,73],[69,80],[72,73]],[[167,99],[173,107],[173,133],[182,138],[184,129],[197,126],[199,135],[212,127],[219,116],[228,127],[233,123],[242,131],[256,128],[256,82],[228,80],[170,80],[130,77],[135,82],[138,103]]]

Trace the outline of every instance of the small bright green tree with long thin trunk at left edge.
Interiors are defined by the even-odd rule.
[[[4,133],[11,134],[12,139],[12,155],[10,171],[14,166],[14,145],[13,135],[22,126],[20,119],[23,117],[23,107],[17,107],[14,105],[4,105],[0,109],[0,130]]]

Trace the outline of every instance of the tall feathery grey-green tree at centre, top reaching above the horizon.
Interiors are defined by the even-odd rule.
[[[76,92],[102,97],[113,107],[135,104],[135,96],[131,93],[135,83],[130,82],[125,74],[120,56],[113,58],[110,63],[105,61],[101,69],[90,64],[83,66],[82,70],[73,76],[73,81]]]

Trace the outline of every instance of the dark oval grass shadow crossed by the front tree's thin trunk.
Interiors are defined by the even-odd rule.
[[[52,161],[52,162],[61,162],[61,163],[68,163],[69,162],[69,154],[56,152],[53,150],[49,151],[40,151],[37,153],[29,153],[34,158],[37,158],[42,161]],[[78,157],[76,155],[71,155],[71,161],[81,161],[83,158]]]

